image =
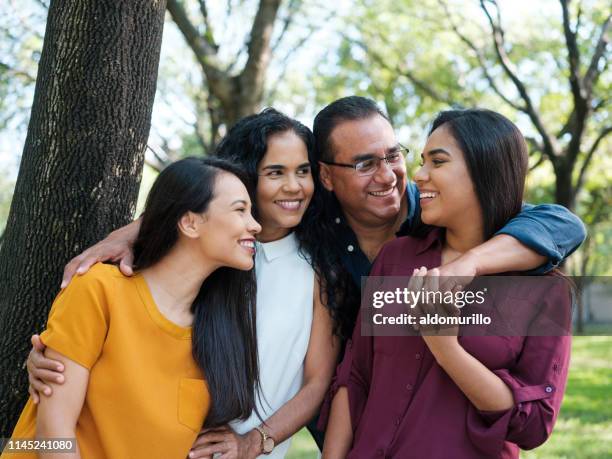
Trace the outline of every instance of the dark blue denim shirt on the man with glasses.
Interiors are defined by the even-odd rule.
[[[423,231],[423,224],[416,218],[421,213],[421,205],[419,190],[414,182],[408,182],[404,199],[408,200],[408,214],[396,233],[398,237]],[[338,227],[338,240],[343,244],[342,264],[351,273],[355,285],[361,285],[361,277],[370,273],[372,263],[359,247],[357,236],[346,223],[342,212],[338,212],[334,223]],[[580,247],[586,237],[586,229],[582,221],[563,206],[523,204],[521,212],[496,234],[512,236],[548,258],[544,265],[533,271],[542,274],[558,266]]]

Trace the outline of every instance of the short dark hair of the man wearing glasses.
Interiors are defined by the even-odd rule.
[[[335,100],[317,113],[313,124],[318,160],[333,161],[334,150],[331,134],[344,121],[357,121],[380,115],[389,123],[389,117],[376,102],[367,97],[349,96]]]

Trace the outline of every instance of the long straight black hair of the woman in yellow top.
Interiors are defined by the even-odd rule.
[[[247,183],[239,167],[218,158],[183,159],[159,174],[134,242],[136,269],[152,266],[168,254],[178,241],[177,225],[186,212],[206,212],[222,173]],[[204,372],[212,400],[207,427],[247,419],[256,410],[255,297],[252,270],[224,267],[208,276],[191,306],[193,357]]]

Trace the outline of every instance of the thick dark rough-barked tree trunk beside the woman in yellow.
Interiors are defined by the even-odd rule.
[[[27,396],[23,362],[64,264],[135,210],[165,0],[51,1],[0,250],[0,437]]]

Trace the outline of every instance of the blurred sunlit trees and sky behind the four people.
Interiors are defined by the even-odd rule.
[[[0,247],[51,1],[0,2]],[[165,164],[210,153],[264,106],[310,126],[338,97],[372,97],[410,146],[409,171],[437,111],[480,106],[527,137],[527,199],[587,225],[566,272],[612,275],[611,13],[609,0],[167,0],[137,209]]]

